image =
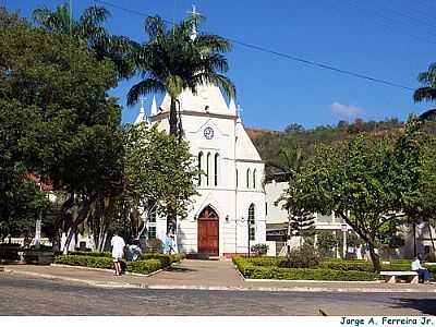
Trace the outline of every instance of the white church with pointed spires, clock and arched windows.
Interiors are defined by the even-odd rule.
[[[246,134],[234,101],[228,105],[214,85],[197,94],[183,92],[180,117],[183,137],[198,168],[198,195],[187,217],[178,219],[178,251],[207,256],[246,254],[250,246],[266,242],[264,162]],[[169,132],[170,97],[160,107],[153,99],[149,121]],[[147,120],[142,108],[136,122]],[[148,222],[148,230],[164,240],[166,218]]]

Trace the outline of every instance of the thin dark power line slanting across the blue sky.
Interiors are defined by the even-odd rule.
[[[106,4],[106,5],[116,8],[116,9],[119,9],[119,10],[123,10],[125,12],[133,13],[133,14],[136,14],[136,15],[141,15],[141,16],[145,16],[145,17],[149,17],[150,16],[150,15],[145,14],[143,12],[131,10],[131,9],[126,9],[126,8],[123,8],[121,5],[113,4],[113,3],[110,3],[110,2],[107,2],[107,1],[102,1],[102,0],[94,0],[94,1],[98,2],[98,3],[101,3],[101,4]],[[168,20],[164,20],[164,21],[166,23],[172,24],[171,21],[168,21]],[[336,73],[340,73],[340,74],[343,74],[343,75],[349,75],[349,76],[353,76],[353,77],[356,77],[356,78],[366,80],[366,81],[371,81],[371,82],[374,82],[374,83],[384,84],[384,85],[388,85],[388,86],[392,86],[392,87],[397,87],[397,88],[402,88],[402,89],[407,89],[407,90],[414,90],[414,88],[412,88],[410,86],[401,85],[399,83],[390,82],[388,80],[382,80],[382,78],[372,77],[372,76],[366,75],[366,74],[361,74],[361,73],[358,73],[358,72],[343,70],[343,69],[340,69],[340,68],[337,68],[337,66],[334,66],[334,65],[330,65],[330,64],[325,64],[325,63],[316,62],[316,61],[313,61],[313,60],[307,60],[307,59],[304,59],[304,58],[292,56],[292,55],[289,55],[289,53],[275,51],[275,50],[262,47],[262,46],[243,43],[243,41],[240,41],[240,40],[237,40],[237,39],[232,39],[232,38],[228,38],[228,37],[227,37],[227,39],[232,41],[233,44],[243,46],[245,48],[250,48],[250,49],[257,50],[257,51],[261,51],[261,52],[274,55],[276,57],[280,57],[280,58],[284,58],[284,59],[292,60],[292,61],[295,61],[295,62],[304,63],[304,64],[312,65],[312,66],[315,66],[315,68],[318,68],[318,69],[329,70],[329,71],[332,71],[332,72],[336,72]]]

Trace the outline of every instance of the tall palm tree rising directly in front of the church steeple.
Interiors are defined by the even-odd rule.
[[[177,102],[183,89],[196,93],[198,85],[214,84],[229,97],[235,97],[232,82],[225,76],[229,69],[222,52],[231,49],[231,44],[217,35],[196,34],[196,26],[203,21],[201,15],[192,15],[180,24],[167,28],[159,16],[145,21],[145,43],[135,58],[137,73],[142,81],[128,94],[128,105],[133,106],[141,96],[149,93],[168,93],[170,105],[170,134],[178,132]]]

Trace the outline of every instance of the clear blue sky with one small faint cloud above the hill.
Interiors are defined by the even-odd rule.
[[[62,0],[0,0],[8,9],[29,16],[39,5],[55,8]],[[107,0],[119,7],[179,21],[194,2],[207,21],[202,29],[247,44],[401,85],[417,87],[436,50],[436,3],[432,0]],[[73,0],[74,13],[95,3]],[[107,5],[108,28],[137,41],[145,40],[144,19]],[[432,56],[433,55],[433,56]],[[290,123],[305,128],[339,120],[404,120],[434,104],[415,105],[412,92],[290,61],[234,45],[228,55],[247,126],[282,130]],[[123,105],[123,121],[138,108],[125,106],[135,81],[111,92]],[[146,100],[149,111],[152,96]]]

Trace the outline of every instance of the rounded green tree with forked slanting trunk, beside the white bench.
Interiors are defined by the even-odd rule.
[[[401,147],[390,135],[360,135],[337,147],[320,146],[290,182],[284,195],[290,213],[302,211],[342,218],[368,245],[376,271],[375,253],[383,228],[399,219],[413,167],[395,155]],[[402,175],[401,175],[402,173]]]

